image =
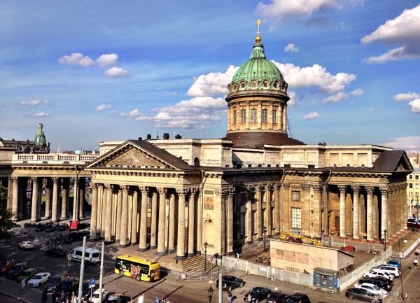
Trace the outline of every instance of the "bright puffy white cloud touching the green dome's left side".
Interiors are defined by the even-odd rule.
[[[188,96],[228,94],[228,84],[238,69],[239,67],[231,65],[224,73],[207,73],[207,75],[199,76],[188,90]]]

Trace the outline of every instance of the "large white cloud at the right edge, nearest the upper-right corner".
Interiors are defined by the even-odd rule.
[[[385,43],[401,45],[383,55],[363,59],[367,63],[384,63],[420,57],[420,5],[405,9],[393,20],[381,24],[372,34],[364,36],[363,43]]]

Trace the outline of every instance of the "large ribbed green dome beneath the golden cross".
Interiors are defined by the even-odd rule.
[[[266,59],[264,45],[255,43],[251,57],[239,67],[228,87],[230,92],[236,90],[280,90],[286,92],[287,84],[279,69]]]

